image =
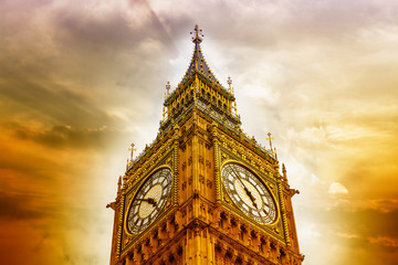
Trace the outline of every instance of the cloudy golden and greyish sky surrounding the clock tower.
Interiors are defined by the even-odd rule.
[[[249,136],[274,137],[305,265],[398,263],[398,2],[0,0],[0,261],[108,264],[128,147],[189,32]]]

